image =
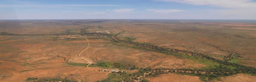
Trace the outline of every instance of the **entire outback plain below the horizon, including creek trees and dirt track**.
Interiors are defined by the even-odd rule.
[[[256,80],[255,20],[0,20],[0,81]]]

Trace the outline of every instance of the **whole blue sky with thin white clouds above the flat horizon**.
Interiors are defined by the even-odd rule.
[[[1,0],[8,19],[256,19],[256,0]]]

